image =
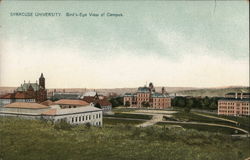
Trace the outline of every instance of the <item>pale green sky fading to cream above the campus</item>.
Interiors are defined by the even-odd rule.
[[[245,0],[2,1],[0,19],[0,86],[41,73],[47,88],[249,86]]]

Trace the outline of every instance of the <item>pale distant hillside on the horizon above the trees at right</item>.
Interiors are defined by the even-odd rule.
[[[178,91],[178,96],[193,96],[193,97],[224,97],[229,92],[250,92],[249,87],[229,87],[229,88],[204,88],[198,90]]]

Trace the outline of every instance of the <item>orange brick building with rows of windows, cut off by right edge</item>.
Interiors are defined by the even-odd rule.
[[[227,95],[228,94],[226,94],[226,96]],[[244,95],[243,93],[234,93],[233,98],[227,97],[227,98],[220,99],[218,101],[218,115],[249,116],[250,115],[250,106],[249,106],[250,99],[244,97],[243,95]]]

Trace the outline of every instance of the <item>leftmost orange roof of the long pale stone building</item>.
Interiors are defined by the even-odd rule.
[[[5,108],[26,108],[26,109],[44,109],[49,108],[48,106],[38,103],[26,103],[26,102],[14,102],[3,106]]]

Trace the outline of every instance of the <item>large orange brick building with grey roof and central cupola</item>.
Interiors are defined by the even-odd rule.
[[[123,103],[127,107],[165,109],[171,107],[171,98],[164,88],[161,93],[155,92],[153,83],[150,83],[148,87],[139,87],[136,93],[126,93]]]

